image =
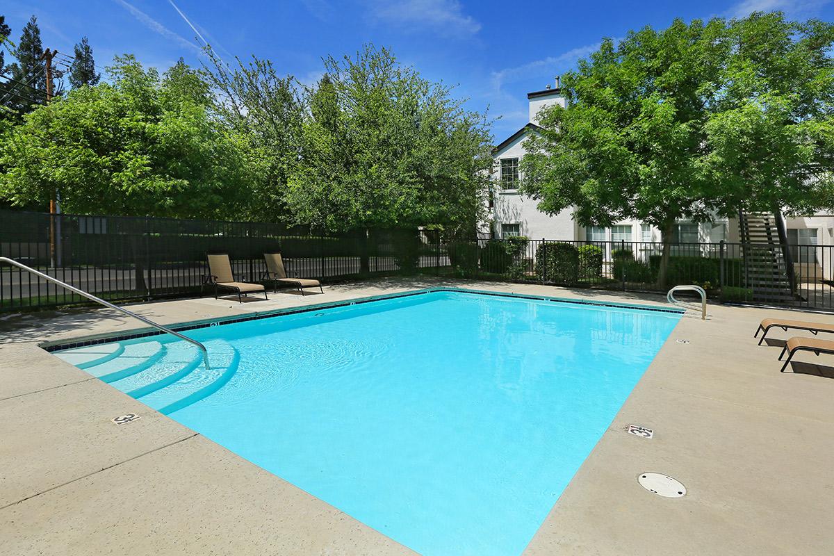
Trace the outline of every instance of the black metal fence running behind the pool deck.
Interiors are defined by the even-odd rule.
[[[229,253],[240,279],[258,281],[264,253],[289,273],[324,282],[394,273],[661,292],[697,284],[722,302],[832,309],[834,246],[751,243],[671,246],[661,287],[661,243],[452,238],[430,230],[304,233],[278,224],[50,215],[0,210],[0,256],[15,258],[113,301],[208,294],[206,253]],[[84,300],[0,266],[0,311]]]

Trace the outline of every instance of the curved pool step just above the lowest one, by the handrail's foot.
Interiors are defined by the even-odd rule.
[[[177,341],[163,346],[164,354],[140,373],[110,383],[128,396],[142,398],[175,383],[203,363],[203,354],[192,343]]]

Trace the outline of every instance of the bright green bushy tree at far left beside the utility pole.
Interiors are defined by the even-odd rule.
[[[6,134],[0,198],[46,203],[57,190],[68,213],[244,213],[243,145],[195,102],[199,74],[178,64],[160,78],[131,56],[108,73],[112,84],[73,89]]]

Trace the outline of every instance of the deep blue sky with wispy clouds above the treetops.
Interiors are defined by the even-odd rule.
[[[0,14],[15,40],[29,16],[37,15],[44,46],[63,53],[72,53],[73,43],[87,35],[102,67],[118,53],[158,68],[179,57],[198,64],[190,21],[222,57],[269,58],[303,83],[319,77],[323,56],[355,53],[371,42],[391,48],[427,78],[457,85],[455,94],[470,98],[470,108],[489,107],[491,116],[500,117],[496,143],[527,122],[526,93],[552,83],[603,37],[666,27],[676,17],[741,16],[757,9],[834,20],[834,0],[173,2],[176,8],[169,0],[3,0]]]

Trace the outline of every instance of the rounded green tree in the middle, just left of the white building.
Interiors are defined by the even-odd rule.
[[[485,117],[384,48],[324,66],[288,184],[295,222],[473,232],[491,163]]]

